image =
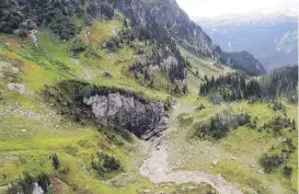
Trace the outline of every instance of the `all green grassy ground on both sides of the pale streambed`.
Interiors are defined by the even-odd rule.
[[[198,87],[205,77],[218,78],[234,70],[212,59],[198,58],[183,48],[180,48],[182,56],[189,62],[185,79],[188,92],[184,95],[171,90],[175,85],[182,87],[183,81],[172,82],[159,68],[149,70],[153,83],[143,79],[142,73],[135,75],[129,68],[142,56],[138,52],[142,49],[149,54],[156,43],[136,38],[131,43],[134,46],[123,44],[103,49],[102,44],[115,38],[122,31],[123,19],[116,12],[113,20],[93,20],[91,25],[83,25],[69,41],[61,41],[43,27],[34,33],[37,44],[31,36],[21,38],[0,34],[0,193],[5,193],[7,186],[23,176],[24,172],[49,174],[53,193],[208,193],[211,190],[206,185],[153,184],[139,173],[139,167],[148,158],[145,141],[136,137],[131,141],[126,140],[112,128],[80,125],[58,114],[54,104],[45,102],[43,91],[46,85],[70,79],[142,93],[149,100],[166,101],[172,96],[186,107],[203,104],[203,110],[180,116],[176,121],[180,130],[166,134],[171,148],[170,162],[175,169],[220,173],[226,180],[239,184],[244,193],[260,191],[264,194],[274,190],[296,193],[296,151],[290,155],[287,164],[292,168],[290,178],[283,175],[284,166],[269,174],[260,171],[258,160],[263,153],[281,152],[284,139],[290,138],[298,147],[298,129],[289,132],[284,128],[279,135],[257,130],[274,116],[284,116],[283,111],[273,111],[269,102],[250,104],[242,100],[216,105],[207,98],[198,96]],[[78,26],[83,23],[79,19],[73,20]],[[281,102],[288,117],[298,123],[298,105],[285,99]],[[223,110],[257,117],[257,126],[254,129],[240,126],[220,140],[202,139],[194,135],[200,124]],[[97,160],[99,152],[114,157],[120,168],[99,175],[91,164]],[[59,169],[53,164],[55,153],[60,162]],[[212,160],[217,160],[217,164],[212,164]]]

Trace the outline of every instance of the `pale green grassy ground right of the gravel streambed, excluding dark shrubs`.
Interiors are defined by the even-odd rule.
[[[295,151],[287,166],[294,169],[290,179],[283,175],[280,166],[273,173],[264,173],[260,164],[263,153],[280,152],[284,149],[284,140],[290,138],[297,144],[298,130],[284,129],[275,135],[271,130],[256,128],[283,112],[272,110],[271,103],[233,102],[221,105],[212,105],[200,101],[205,109],[181,115],[177,121],[180,132],[169,135],[171,145],[171,162],[177,170],[202,170],[205,172],[221,174],[227,180],[238,182],[245,193],[252,193],[252,189],[260,193],[297,193],[298,187],[298,161]],[[297,121],[297,105],[284,101],[287,115]],[[220,140],[202,139],[195,136],[198,126],[207,122],[211,116],[229,110],[233,113],[248,113],[257,117],[257,127],[250,129],[246,126],[238,127]],[[177,147],[180,145],[180,147]],[[216,161],[216,164],[214,162]]]

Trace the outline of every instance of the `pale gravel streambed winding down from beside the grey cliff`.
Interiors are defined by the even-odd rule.
[[[180,114],[189,113],[195,109],[196,106],[183,106],[181,104],[174,106],[172,116],[169,119],[171,125],[169,129],[161,137],[148,141],[150,157],[140,167],[140,173],[149,178],[153,183],[207,183],[220,194],[242,194],[235,184],[227,182],[220,174],[214,175],[199,171],[172,171],[168,162],[169,151],[164,136],[177,129],[175,121]]]

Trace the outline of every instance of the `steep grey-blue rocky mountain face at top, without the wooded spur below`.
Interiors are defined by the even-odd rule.
[[[140,23],[157,23],[181,46],[200,57],[211,57],[218,52],[209,36],[189,20],[175,0],[118,0],[115,3]]]

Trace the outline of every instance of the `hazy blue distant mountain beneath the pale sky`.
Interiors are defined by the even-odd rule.
[[[228,14],[195,21],[223,50],[248,50],[267,70],[298,61],[298,19],[294,11]]]

